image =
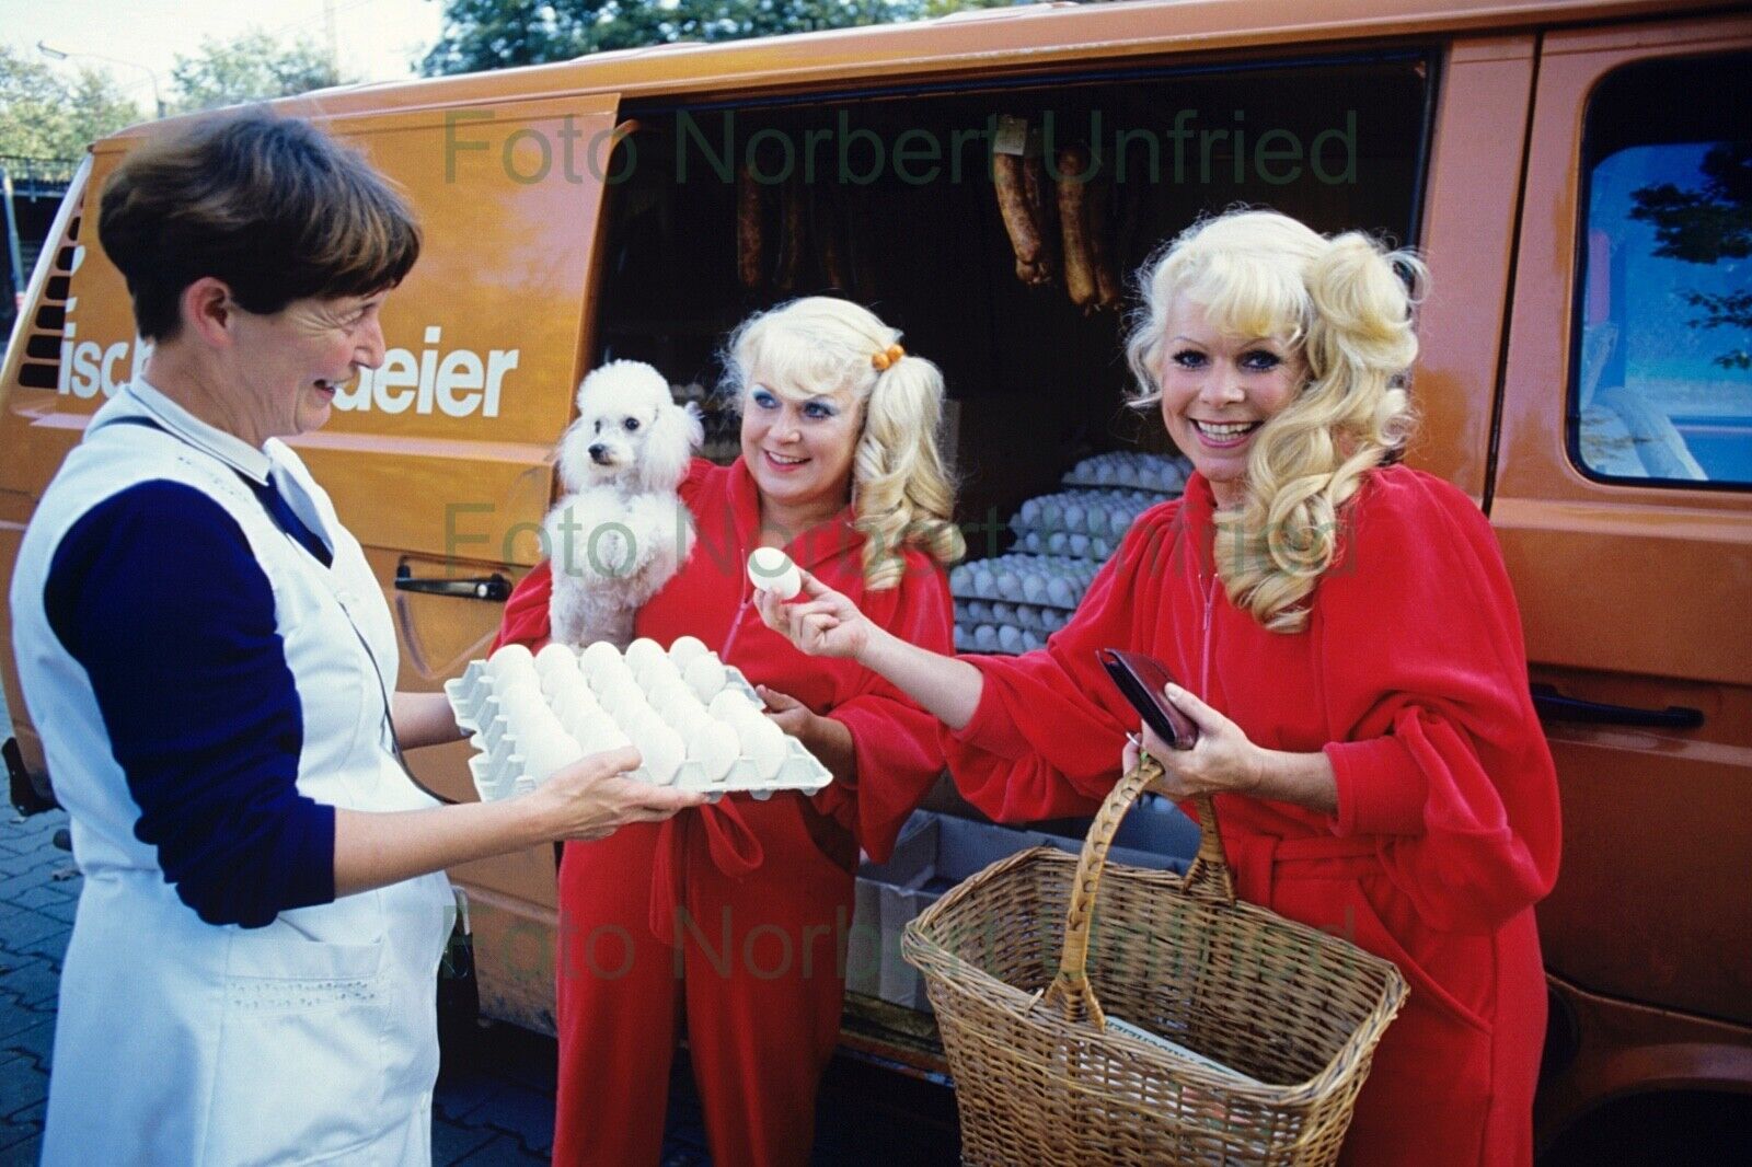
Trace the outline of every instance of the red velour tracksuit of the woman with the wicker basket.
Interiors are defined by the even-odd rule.
[[[1326,817],[1216,796],[1237,894],[1388,957],[1410,999],[1358,1100],[1346,1162],[1529,1163],[1545,980],[1533,904],[1558,874],[1558,787],[1489,524],[1409,468],[1344,512],[1303,633],[1265,631],[1214,575],[1211,487],[1139,517],[1076,619],[1025,657],[972,657],[944,732],[962,792],[1006,820],[1090,813],[1137,713],[1099,648],[1134,648],[1274,750],[1325,750]]]

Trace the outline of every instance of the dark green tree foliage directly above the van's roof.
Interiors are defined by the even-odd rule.
[[[745,40],[857,28],[1018,0],[447,0],[427,77],[569,61],[676,40]],[[1027,0],[1020,0],[1027,2]]]

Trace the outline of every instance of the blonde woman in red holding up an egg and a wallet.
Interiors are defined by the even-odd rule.
[[[1395,265],[1421,272],[1361,235],[1239,212],[1146,268],[1139,405],[1197,473],[1137,519],[1046,648],[937,655],[813,580],[811,603],[762,617],[943,718],[957,785],[999,818],[1093,810],[1139,729],[1095,654],[1162,661],[1200,741],[1144,731],[1144,746],[1167,794],[1214,794],[1237,892],[1410,981],[1346,1162],[1531,1163],[1556,776],[1489,524],[1391,464],[1417,354]]]

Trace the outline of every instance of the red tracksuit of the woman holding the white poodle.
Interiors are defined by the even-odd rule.
[[[638,634],[662,645],[697,636],[752,683],[843,722],[857,745],[857,783],[836,780],[813,799],[729,796],[661,825],[566,845],[554,1162],[659,1160],[685,1018],[713,1162],[806,1163],[816,1086],[839,1041],[858,848],[888,857],[943,771],[939,725],[874,673],[809,659],[760,622],[745,573],[760,508],[741,461],[696,461],[680,492],[699,538],[639,612]],[[862,545],[848,508],[787,550],[883,627],[951,652],[943,569],[909,550],[901,584],[867,592]],[[541,564],[506,605],[499,643],[547,643],[550,591]]]

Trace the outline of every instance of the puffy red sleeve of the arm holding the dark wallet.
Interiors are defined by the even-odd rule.
[[[1391,470],[1358,496],[1321,580],[1337,834],[1377,836],[1437,929],[1489,930],[1558,876],[1558,780],[1489,522],[1459,491]]]

